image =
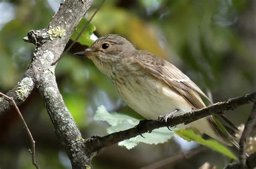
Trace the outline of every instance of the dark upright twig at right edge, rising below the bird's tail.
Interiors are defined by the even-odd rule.
[[[246,121],[245,129],[242,132],[242,136],[239,142],[239,146],[240,146],[239,161],[240,161],[241,168],[247,168],[246,139],[250,136],[250,133],[253,129],[255,122],[256,122],[256,103],[253,104],[252,112]]]

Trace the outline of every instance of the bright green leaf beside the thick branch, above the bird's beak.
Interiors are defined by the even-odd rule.
[[[77,38],[78,34],[82,31],[82,29],[84,28],[84,26],[86,25],[87,22],[88,21],[85,18],[81,19],[81,21],[79,22],[79,24],[76,27],[75,32],[71,36],[71,40],[75,40]],[[92,32],[95,30],[96,30],[96,27],[92,23],[89,23],[89,25],[84,30],[82,35],[79,37],[77,42],[82,45],[91,46],[94,41],[90,38],[90,36],[91,36]]]

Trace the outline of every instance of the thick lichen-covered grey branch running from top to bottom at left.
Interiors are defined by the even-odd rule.
[[[91,156],[84,151],[83,138],[66,108],[55,79],[55,65],[70,39],[75,26],[89,9],[92,1],[66,0],[53,16],[48,28],[31,30],[26,42],[36,45],[34,58],[29,66],[35,77],[36,88],[50,114],[60,143],[65,147],[73,168],[90,166]]]

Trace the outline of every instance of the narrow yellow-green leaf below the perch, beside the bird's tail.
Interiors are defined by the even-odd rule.
[[[178,130],[175,133],[178,134],[179,137],[181,137],[187,141],[195,141],[201,145],[211,148],[212,150],[215,150],[217,152],[225,154],[226,156],[228,156],[232,159],[237,159],[229,150],[227,150],[226,147],[224,147],[217,141],[212,140],[212,139],[205,140],[200,135],[194,133],[192,130]]]

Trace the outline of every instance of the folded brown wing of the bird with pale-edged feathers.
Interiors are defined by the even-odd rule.
[[[201,97],[211,103],[211,100],[190,78],[166,60],[146,51],[136,55],[135,59],[140,67],[169,85],[173,91],[183,96],[195,109],[205,107]]]

